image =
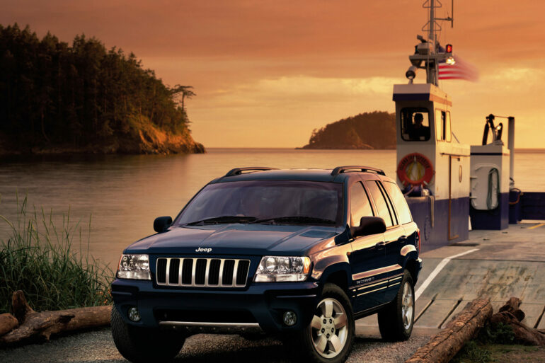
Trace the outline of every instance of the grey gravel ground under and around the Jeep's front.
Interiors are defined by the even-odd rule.
[[[347,362],[404,362],[429,336],[413,335],[406,342],[383,342],[379,336],[358,335]],[[127,362],[113,344],[110,328],[54,338],[42,344],[0,350],[0,362],[120,363]],[[289,362],[277,340],[251,342],[238,335],[193,335],[176,362]]]

